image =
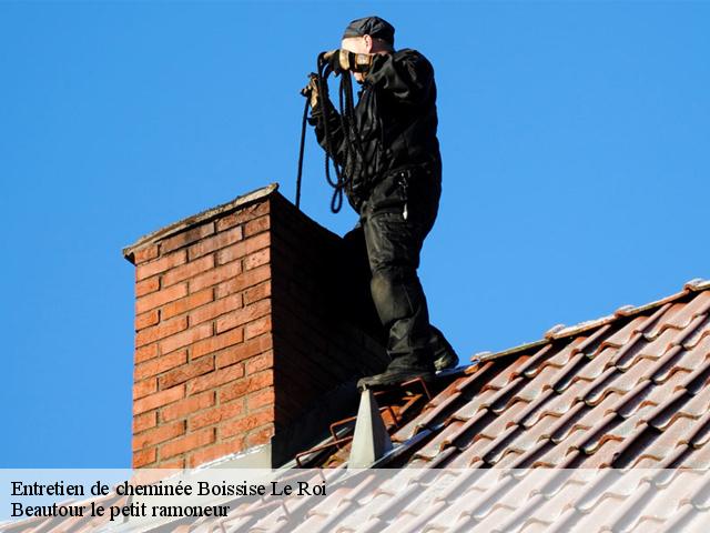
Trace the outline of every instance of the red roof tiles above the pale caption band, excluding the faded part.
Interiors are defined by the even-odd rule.
[[[393,439],[409,464],[710,466],[710,283],[484,354]]]

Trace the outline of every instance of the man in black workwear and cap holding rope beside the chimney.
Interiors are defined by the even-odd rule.
[[[428,380],[435,370],[458,364],[450,344],[429,324],[417,275],[442,192],[434,69],[415,50],[395,51],[394,34],[379,17],[357,19],[345,29],[342,48],[323,57],[334,73],[352,72],[362,86],[352,110],[354,128],[329,101],[326,83],[312,77],[306,88],[308,122],[343,167],[347,200],[359,214],[345,239],[364,241],[372,298],[387,333],[390,363],[383,373],[361,379],[361,390]],[[325,94],[318,94],[318,86]]]

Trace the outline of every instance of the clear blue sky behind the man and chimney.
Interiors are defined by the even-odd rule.
[[[317,52],[378,13],[434,63],[420,275],[462,356],[710,278],[704,2],[0,3],[0,466],[130,465],[123,245],[277,181]],[[304,211],[328,212],[310,134]]]

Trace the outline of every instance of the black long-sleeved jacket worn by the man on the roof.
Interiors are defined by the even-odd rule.
[[[364,201],[372,203],[373,197],[386,197],[387,191],[377,189],[392,189],[387,181],[400,170],[415,169],[418,175],[425,169],[438,187],[442,160],[436,138],[436,83],[432,63],[419,52],[403,49],[373,58],[355,107],[362,155],[354,149],[357,140],[343,131],[331,101],[323,100],[329,109],[329,154],[351,181],[346,192],[356,211]],[[315,125],[318,143],[328,150],[322,109],[321,103],[316,105],[310,122]]]

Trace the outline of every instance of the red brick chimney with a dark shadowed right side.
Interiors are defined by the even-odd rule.
[[[278,466],[325,436],[356,401],[356,378],[385,364],[343,295],[341,239],[276,184],[123,254],[135,265],[134,467],[246,450],[250,466]]]

